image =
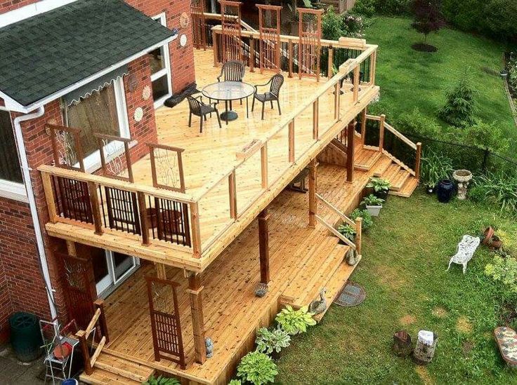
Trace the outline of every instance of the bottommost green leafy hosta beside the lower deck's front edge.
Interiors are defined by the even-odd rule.
[[[277,374],[277,365],[270,357],[259,351],[247,353],[237,366],[237,377],[254,385],[273,382]]]

